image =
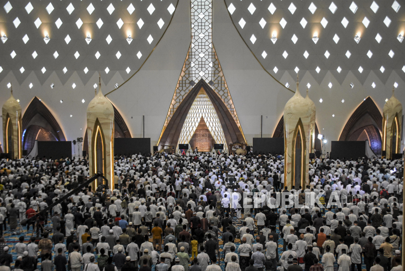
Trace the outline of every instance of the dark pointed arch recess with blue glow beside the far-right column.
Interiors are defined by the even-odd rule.
[[[339,141],[364,140],[366,135],[371,150],[379,155],[382,150],[382,130],[383,116],[373,99],[367,97],[347,120]]]

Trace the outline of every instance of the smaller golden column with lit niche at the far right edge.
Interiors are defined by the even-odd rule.
[[[383,108],[383,152],[387,159],[401,153],[402,104],[395,97],[394,90],[392,87],[392,96]]]

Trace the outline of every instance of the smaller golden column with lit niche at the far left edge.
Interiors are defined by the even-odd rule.
[[[21,106],[13,96],[3,104],[3,152],[9,153],[11,159],[20,159],[22,155],[22,116]]]

